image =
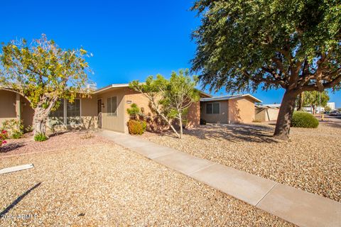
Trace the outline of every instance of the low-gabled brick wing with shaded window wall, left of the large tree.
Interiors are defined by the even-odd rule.
[[[254,104],[261,102],[250,94],[200,99],[200,118],[207,123],[251,123]]]

